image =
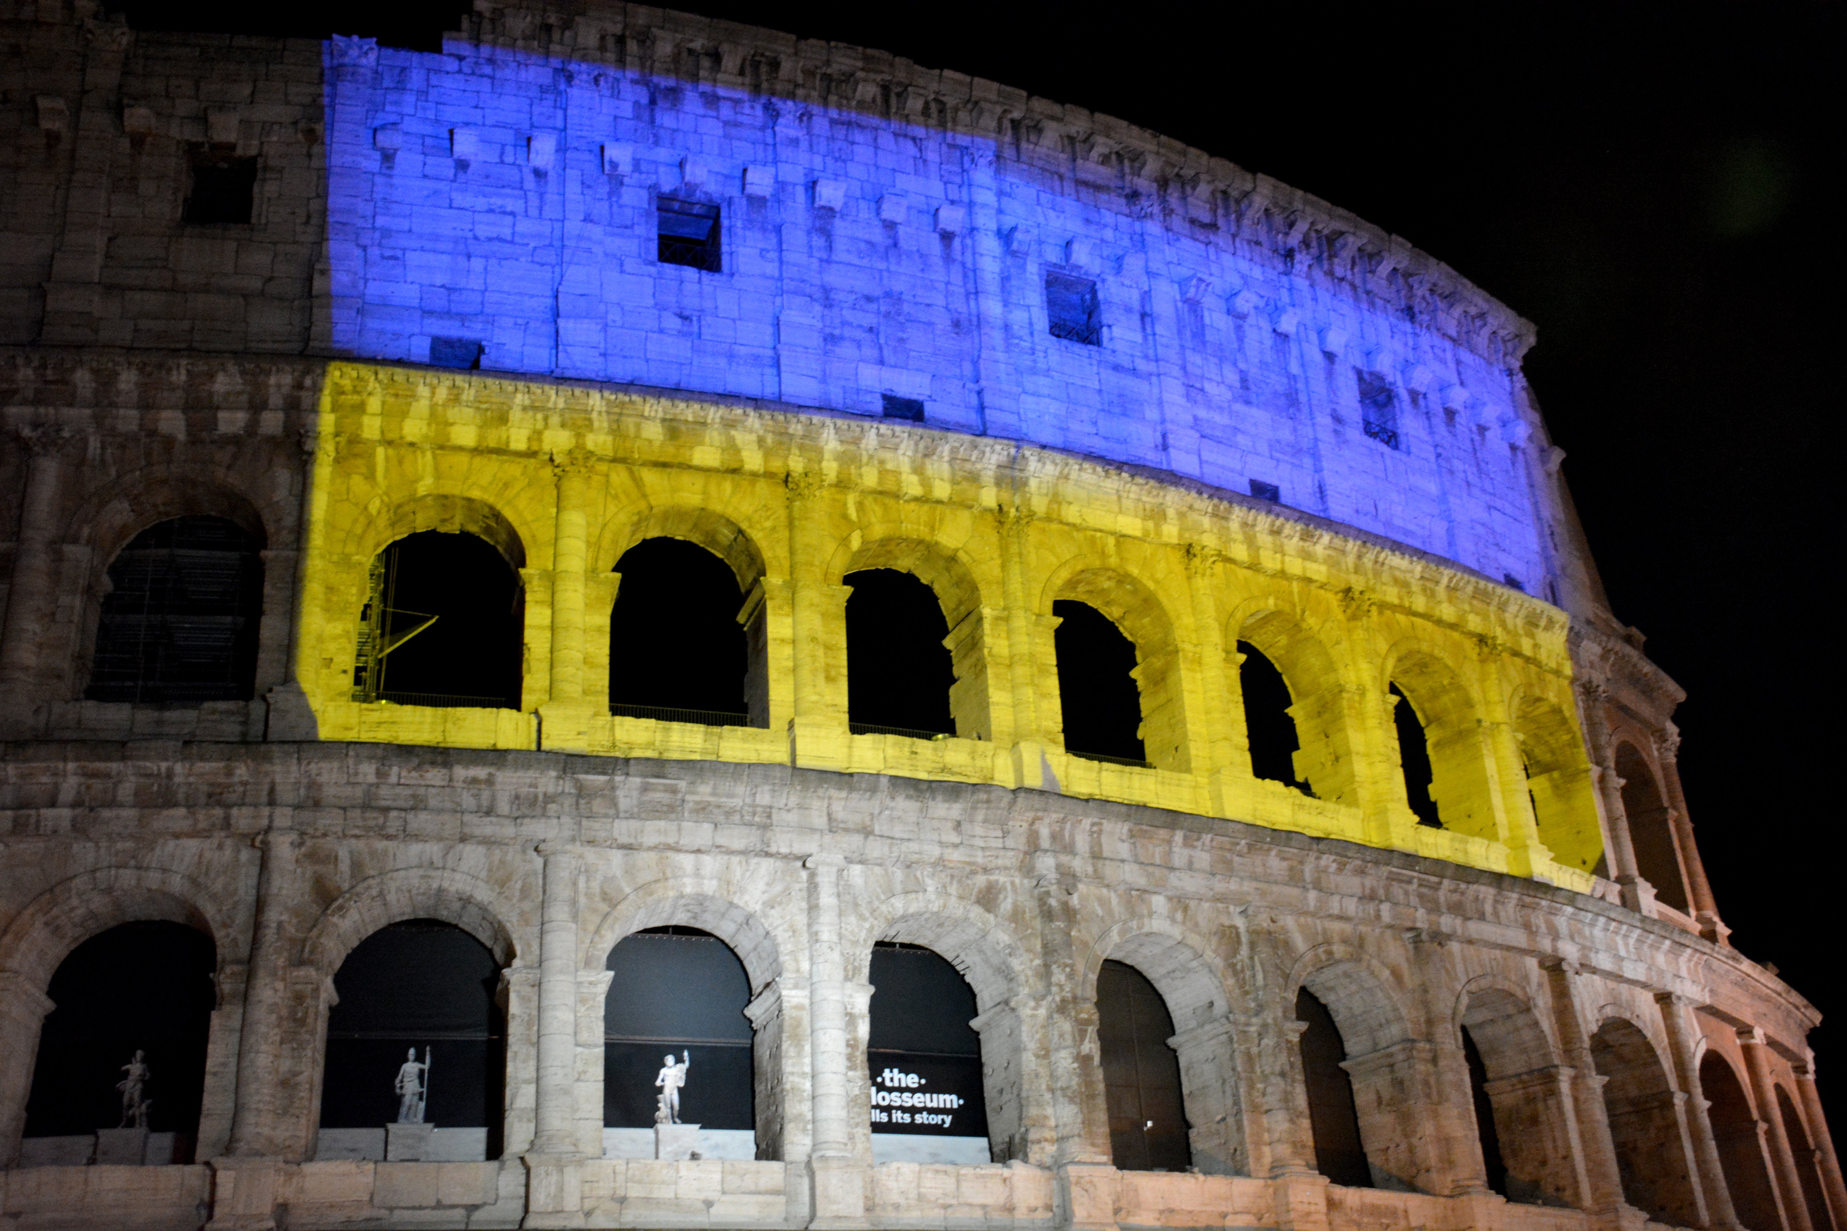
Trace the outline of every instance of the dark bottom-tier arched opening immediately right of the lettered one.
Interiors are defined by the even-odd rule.
[[[1188,1148],[1173,1015],[1154,984],[1123,962],[1097,971],[1097,1052],[1110,1113],[1110,1153],[1125,1172],[1184,1172]]]

